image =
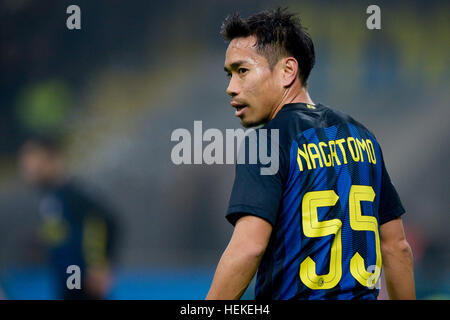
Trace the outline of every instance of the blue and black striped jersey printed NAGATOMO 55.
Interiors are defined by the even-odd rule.
[[[261,129],[278,130],[267,143],[279,170],[237,164],[227,212],[232,224],[255,215],[273,227],[256,298],[376,299],[379,228],[405,210],[375,136],[322,104],[287,104]]]

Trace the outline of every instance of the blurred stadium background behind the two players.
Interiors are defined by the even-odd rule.
[[[69,31],[66,8],[81,8]],[[381,7],[382,29],[366,29]],[[231,235],[232,165],[176,166],[176,128],[237,128],[223,18],[275,5],[315,42],[315,102],[377,135],[407,214],[417,297],[450,297],[449,3],[442,1],[0,1],[0,286],[52,298],[38,197],[17,169],[24,137],[64,138],[70,171],[120,213],[112,299],[203,299]],[[251,288],[250,288],[251,289]],[[248,290],[245,298],[253,293]],[[385,293],[382,297],[386,297]]]

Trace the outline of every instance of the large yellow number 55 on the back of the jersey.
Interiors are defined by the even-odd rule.
[[[368,272],[364,266],[364,259],[356,252],[350,260],[351,275],[363,286],[372,288],[381,273],[381,250],[378,223],[375,217],[361,214],[361,201],[373,202],[375,192],[370,186],[353,185],[349,194],[350,227],[355,231],[372,231],[375,233],[376,267]],[[334,234],[331,244],[330,269],[328,274],[318,275],[316,263],[311,257],[306,257],[300,264],[300,279],[310,289],[331,289],[342,277],[342,221],[331,219],[319,221],[317,208],[332,207],[339,200],[334,190],[307,192],[302,201],[302,227],[305,236],[310,238],[325,237]]]

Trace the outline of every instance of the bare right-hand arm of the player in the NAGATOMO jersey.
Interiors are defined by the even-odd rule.
[[[383,270],[390,299],[415,299],[414,262],[401,218],[380,226]]]

